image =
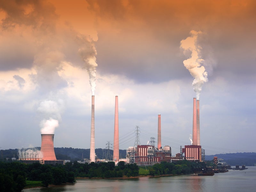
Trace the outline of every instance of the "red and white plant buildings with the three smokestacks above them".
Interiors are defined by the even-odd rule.
[[[154,145],[137,145],[126,149],[127,163],[138,165],[152,165],[156,163],[173,162],[180,160],[204,161],[204,149],[200,145],[200,120],[199,120],[199,100],[193,98],[193,139],[191,145],[180,148],[180,153],[172,156],[170,146],[161,144],[161,115],[158,114],[157,127],[157,148]],[[184,156],[183,156],[184,154]]]

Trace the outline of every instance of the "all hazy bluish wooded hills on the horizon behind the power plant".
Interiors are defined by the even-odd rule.
[[[40,147],[35,149],[40,150]],[[90,158],[90,149],[80,149],[80,148],[54,148],[55,155],[57,159],[70,160],[70,161],[80,161],[82,159]],[[108,155],[107,149],[97,148],[95,153],[99,159],[105,159]],[[111,158],[113,157],[113,150],[109,149],[109,154]],[[126,150],[119,150],[120,158],[126,157]],[[173,155],[173,154],[172,154]],[[235,165],[246,165],[255,166],[256,165],[256,153],[226,153],[226,154],[216,154],[216,155],[205,155],[206,161],[213,160],[213,157],[217,156],[218,159],[223,159],[220,161],[225,161],[231,166]],[[1,160],[11,160],[12,157],[18,159],[18,149],[6,149],[1,150]],[[108,156],[109,159],[109,156]]]

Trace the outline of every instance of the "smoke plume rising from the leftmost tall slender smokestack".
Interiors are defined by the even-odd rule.
[[[94,41],[92,40],[92,38],[82,35],[77,36],[77,41],[80,45],[78,52],[84,60],[84,67],[86,68],[90,78],[89,81],[91,85],[92,95],[94,95],[96,88],[96,67],[98,66],[95,57],[97,55],[97,51],[94,45]]]

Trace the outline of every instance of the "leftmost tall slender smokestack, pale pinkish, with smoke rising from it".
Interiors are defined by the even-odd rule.
[[[90,159],[95,162],[95,122],[94,122],[94,95],[92,95],[92,118],[91,118],[91,145]]]

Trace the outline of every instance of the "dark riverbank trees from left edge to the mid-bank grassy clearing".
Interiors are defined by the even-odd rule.
[[[39,163],[23,164],[20,162],[0,162],[0,191],[21,191],[26,180],[42,181],[42,186],[49,184],[74,183],[75,177],[121,178],[139,175],[136,164],[121,161],[79,164],[77,161],[65,165],[44,165]]]

